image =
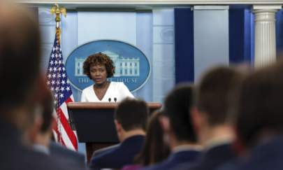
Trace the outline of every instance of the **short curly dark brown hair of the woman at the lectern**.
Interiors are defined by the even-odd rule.
[[[94,65],[105,65],[107,78],[113,77],[115,73],[115,66],[112,59],[110,59],[108,55],[99,52],[87,57],[83,65],[83,71],[84,74],[87,75],[90,79],[92,79],[90,76],[90,67]]]

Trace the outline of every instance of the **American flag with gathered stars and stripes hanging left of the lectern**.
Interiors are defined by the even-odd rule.
[[[53,130],[57,134],[57,140],[71,150],[78,150],[77,136],[68,124],[66,106],[68,102],[74,101],[73,94],[68,83],[59,39],[56,35],[48,64],[47,84],[55,99],[57,125],[53,127]]]

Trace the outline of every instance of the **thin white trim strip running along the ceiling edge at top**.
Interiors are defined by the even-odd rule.
[[[20,3],[33,4],[78,4],[78,5],[189,5],[189,4],[282,4],[282,0],[18,0]],[[86,6],[87,7],[87,6]]]

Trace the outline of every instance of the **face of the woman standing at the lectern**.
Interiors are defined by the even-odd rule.
[[[107,71],[105,65],[92,65],[89,68],[90,77],[96,85],[106,83]]]

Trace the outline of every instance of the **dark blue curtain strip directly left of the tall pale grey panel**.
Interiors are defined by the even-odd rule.
[[[194,11],[175,8],[175,83],[194,82]]]

